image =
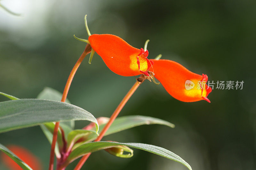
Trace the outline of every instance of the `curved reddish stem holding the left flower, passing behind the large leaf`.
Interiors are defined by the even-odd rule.
[[[91,52],[92,48],[89,44],[86,45],[84,52],[82,53],[82,55],[79,57],[79,59],[77,60],[76,64],[74,65],[73,69],[71,70],[69,77],[68,77],[68,81],[65,85],[63,94],[62,94],[62,102],[65,102],[67,95],[68,95],[68,90],[69,87],[71,85],[71,82],[76,74],[76,70],[78,69],[78,67],[80,66],[81,62],[83,61],[84,57],[89,54]],[[55,149],[55,144],[57,141],[57,132],[58,132],[58,128],[59,128],[60,122],[56,122],[55,127],[54,127],[54,131],[53,131],[53,137],[52,137],[52,147],[51,147],[51,155],[50,155],[50,162],[49,162],[49,170],[53,170],[53,163],[54,163],[54,149]]]

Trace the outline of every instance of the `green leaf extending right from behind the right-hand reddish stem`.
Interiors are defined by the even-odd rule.
[[[149,117],[149,116],[140,116],[140,115],[131,115],[131,116],[122,116],[116,118],[116,120],[112,123],[112,125],[109,127],[108,131],[105,133],[104,136],[120,132],[122,130],[130,129],[136,126],[140,125],[149,125],[149,124],[161,124],[161,125],[166,125],[171,128],[174,128],[175,125],[164,121],[162,119],[154,118],[154,117]],[[99,133],[101,130],[104,128],[106,124],[101,124],[99,127]],[[91,134],[89,135],[87,141],[93,141],[94,139],[97,138],[97,135]],[[81,144],[81,143],[80,143]],[[79,144],[76,144],[75,147],[77,147]]]

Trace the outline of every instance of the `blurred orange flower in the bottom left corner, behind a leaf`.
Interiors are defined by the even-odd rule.
[[[28,166],[34,170],[42,170],[42,164],[36,156],[34,156],[27,149],[16,145],[9,145],[8,149],[11,150],[15,155],[17,155],[21,160],[23,160]],[[1,154],[2,162],[11,170],[22,170],[22,168],[4,152]]]

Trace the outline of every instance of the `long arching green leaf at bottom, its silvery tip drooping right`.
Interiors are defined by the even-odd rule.
[[[186,166],[189,170],[192,170],[191,166],[186,161],[184,161],[182,158],[180,158],[178,155],[174,154],[173,152],[158,146],[151,145],[151,144],[141,144],[141,143],[89,142],[79,146],[74,151],[72,151],[68,156],[67,162],[70,163],[75,159],[81,156],[84,156],[87,153],[96,152],[102,149],[107,149],[107,148],[111,148],[113,146],[118,146],[118,145],[129,146],[132,148],[155,153],[159,156],[179,162],[184,166]]]

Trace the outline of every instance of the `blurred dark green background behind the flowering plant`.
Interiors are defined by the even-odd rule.
[[[255,0],[1,0],[22,16],[0,8],[0,91],[18,98],[36,98],[45,86],[63,91],[69,72],[91,33],[120,36],[141,48],[149,39],[148,58],[181,63],[209,81],[244,81],[242,90],[213,89],[206,101],[173,99],[162,85],[144,82],[120,116],[147,115],[176,125],[143,125],[104,137],[164,147],[194,170],[256,169]],[[134,77],[111,72],[99,55],[86,57],[72,82],[68,99],[95,117],[110,116]],[[7,98],[0,96],[0,101]],[[88,122],[77,121],[76,128]],[[19,144],[36,154],[48,168],[50,144],[39,127],[0,134],[0,143]],[[130,159],[105,151],[93,153],[82,169],[185,170],[157,155],[134,149]],[[68,166],[73,169],[77,161]],[[0,162],[0,169],[5,169]]]

